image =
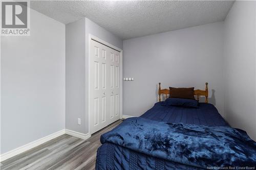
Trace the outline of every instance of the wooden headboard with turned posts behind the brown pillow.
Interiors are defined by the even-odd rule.
[[[170,90],[169,89],[161,89],[161,83],[159,83],[159,87],[158,87],[158,101],[161,101],[161,94],[165,94],[165,97],[167,99],[167,95],[170,94]],[[197,101],[199,101],[200,96],[205,96],[205,103],[208,103],[208,83],[205,83],[205,90],[194,90],[194,95],[197,96]]]

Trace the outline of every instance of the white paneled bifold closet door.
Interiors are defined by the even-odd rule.
[[[91,39],[90,132],[120,119],[120,52]]]

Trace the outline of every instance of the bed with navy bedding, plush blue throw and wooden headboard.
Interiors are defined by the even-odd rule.
[[[205,103],[199,103],[198,108],[165,106],[164,102],[161,101],[161,95],[168,98],[169,89],[161,89],[160,83],[158,93],[159,102],[153,108],[140,117],[124,120],[121,125],[101,136],[101,143],[103,144],[97,151],[96,169],[214,168],[218,165],[220,158],[211,155],[212,150],[204,143],[216,141],[217,144],[211,143],[211,145],[219,145],[218,152],[224,152],[222,150],[227,142],[233,141],[228,150],[238,152],[236,147],[240,147],[240,150],[243,150],[241,155],[246,155],[246,157],[241,158],[245,160],[241,160],[241,155],[232,155],[231,158],[230,154],[225,151],[226,155],[219,154],[222,157],[225,155],[226,158],[223,158],[223,162],[219,162],[219,165],[234,164],[251,167],[256,165],[255,142],[244,131],[230,128],[215,106],[208,103],[208,83],[205,85],[205,90],[194,91],[197,100],[200,96],[205,97]],[[206,139],[205,141],[198,137],[200,132],[202,132],[201,137]],[[209,134],[211,135],[209,136]],[[227,134],[233,134],[233,136]],[[158,140],[156,141],[156,139]],[[170,142],[173,139],[178,144],[178,149],[177,146],[174,149],[172,148],[174,146],[166,145],[173,144]],[[243,140],[241,141],[241,139]],[[190,144],[189,148],[187,143],[190,141],[194,141],[194,144]],[[202,145],[204,146],[202,147]],[[205,155],[207,153],[205,150],[211,150],[211,152]],[[204,155],[203,157],[201,155],[197,156],[200,159],[191,159],[191,155],[200,154],[200,151]],[[255,154],[253,154],[254,151]],[[189,154],[186,155],[186,153]],[[213,159],[214,157],[216,160]],[[217,163],[211,163],[212,161]]]

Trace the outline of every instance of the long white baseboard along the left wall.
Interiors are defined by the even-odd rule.
[[[28,151],[28,150],[30,150],[30,149],[32,149],[34,147],[37,147],[38,145],[40,145],[42,143],[45,143],[45,142],[47,142],[49,140],[52,140],[52,139],[54,139],[54,138],[56,138],[56,137],[58,137],[60,135],[63,135],[63,134],[65,134],[65,129],[60,130],[58,132],[55,132],[53,134],[50,134],[48,136],[42,137],[40,139],[37,139],[35,141],[32,141],[32,142],[30,142],[28,144],[23,145],[22,147],[18,147],[18,148],[14,149],[14,150],[6,152],[6,153],[0,155],[0,161],[4,161],[4,160],[6,160],[8,158],[11,158],[11,157],[13,157],[15,155],[18,155],[20,153]]]

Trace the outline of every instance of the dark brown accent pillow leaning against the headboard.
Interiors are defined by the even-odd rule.
[[[182,99],[194,99],[194,87],[190,88],[174,88],[169,87],[170,95],[169,98],[182,98]]]

